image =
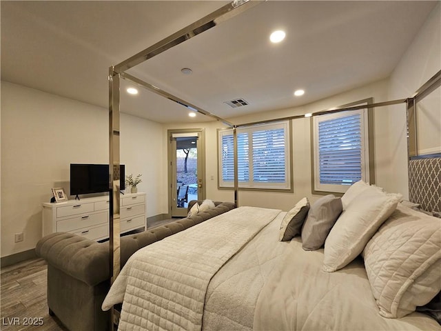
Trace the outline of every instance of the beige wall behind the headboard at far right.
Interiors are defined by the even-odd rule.
[[[423,83],[439,70],[441,70],[440,3],[432,10],[411,46],[403,54],[400,63],[393,70],[389,86],[389,99],[411,97]],[[435,93],[440,98],[440,88]],[[419,146],[420,150],[441,152],[440,103],[438,102],[438,106],[427,109],[427,112],[418,111],[417,116],[423,122],[430,123],[419,128],[419,134],[425,133],[425,137],[428,137],[428,139],[422,140],[423,145]],[[409,197],[409,182],[407,180],[406,112],[397,107],[391,107],[389,117],[391,123],[389,128],[391,131],[391,139],[389,140],[391,178],[388,187],[393,192],[401,192],[407,199]],[[429,145],[424,145],[424,141],[429,141]]]

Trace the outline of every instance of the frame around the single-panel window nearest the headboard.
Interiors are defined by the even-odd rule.
[[[373,98],[363,99],[338,108],[349,108],[353,106],[369,106]],[[375,183],[374,149],[373,149],[373,108],[367,107],[360,110],[347,110],[342,112],[330,112],[311,118],[311,189],[313,194],[336,194],[342,195],[351,185],[343,184],[321,184],[318,164],[318,122],[320,119],[326,121],[332,118],[345,117],[359,112],[362,123],[362,180],[367,183]]]

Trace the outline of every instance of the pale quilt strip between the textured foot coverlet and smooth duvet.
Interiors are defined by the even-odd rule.
[[[286,212],[263,228],[210,281],[203,330],[252,330],[258,294],[280,263],[287,242],[278,241]]]

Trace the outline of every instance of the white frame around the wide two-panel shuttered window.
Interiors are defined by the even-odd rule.
[[[253,157],[252,157],[252,134],[253,132],[261,130],[271,130],[283,128],[285,132],[285,181],[283,183],[262,183],[254,182],[253,180]],[[280,191],[280,192],[293,192],[292,183],[292,144],[291,144],[291,121],[277,121],[264,124],[256,124],[253,126],[241,127],[236,129],[237,135],[247,134],[249,142],[249,181],[238,181],[239,190],[261,190],[261,191]],[[233,181],[223,181],[223,136],[232,135],[233,129],[218,129],[218,189],[231,189],[234,188]]]

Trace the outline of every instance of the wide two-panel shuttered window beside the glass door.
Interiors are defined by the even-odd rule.
[[[219,131],[219,185],[234,187],[233,130]],[[237,129],[239,188],[291,189],[289,122]]]

